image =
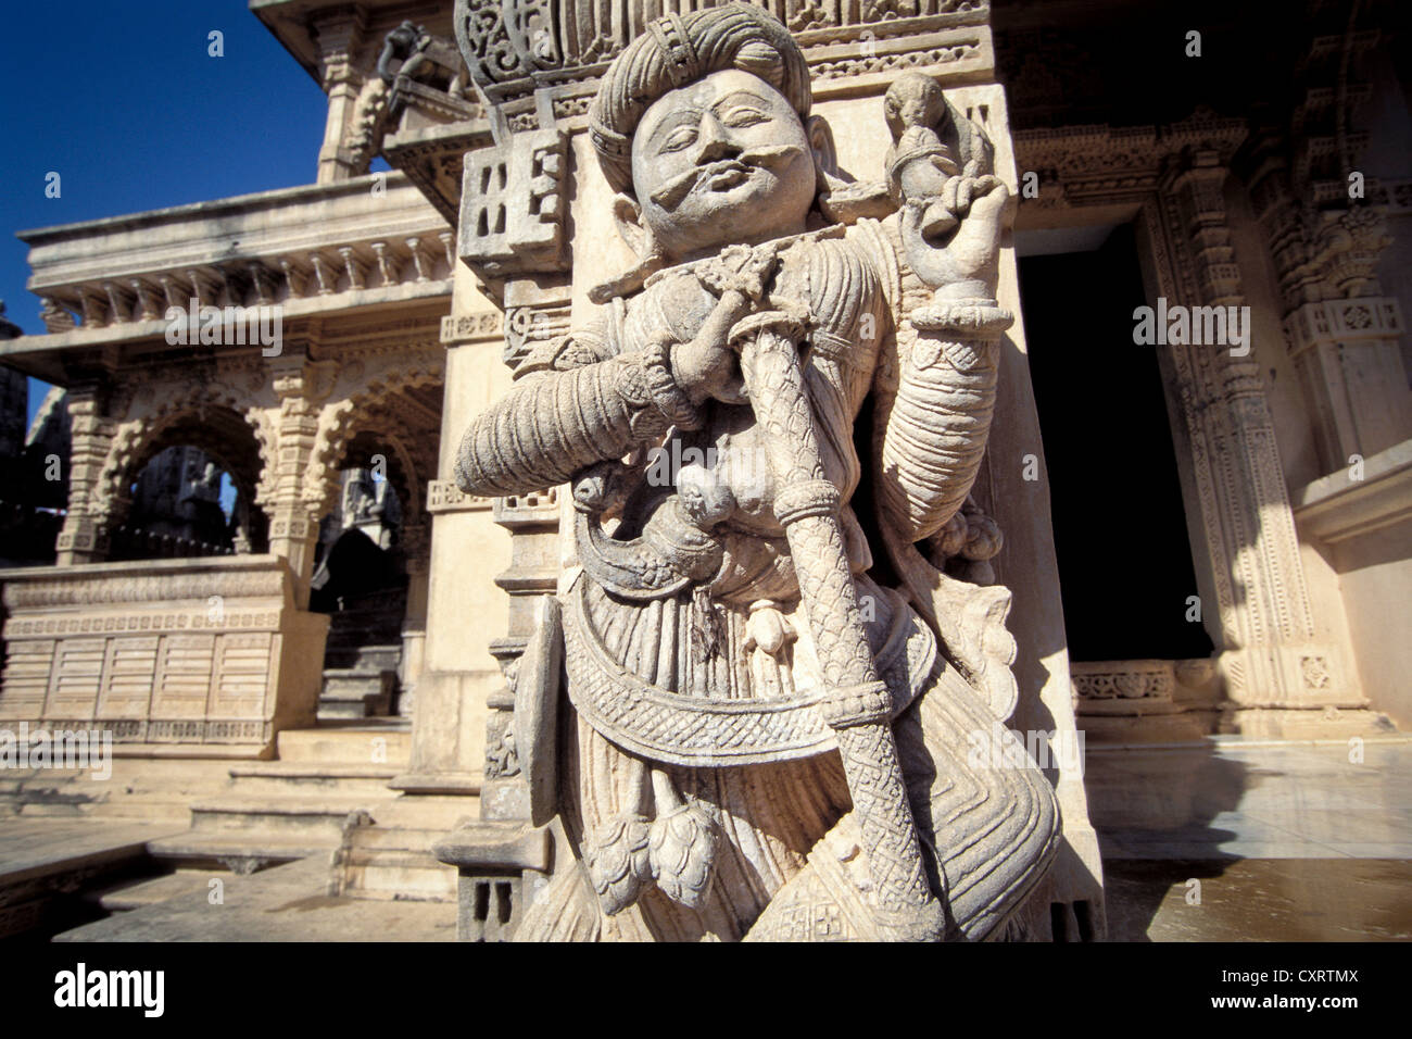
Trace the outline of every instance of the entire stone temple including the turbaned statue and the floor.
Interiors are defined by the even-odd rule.
[[[1406,936],[1394,3],[250,8],[313,182],[18,232],[0,937]]]

